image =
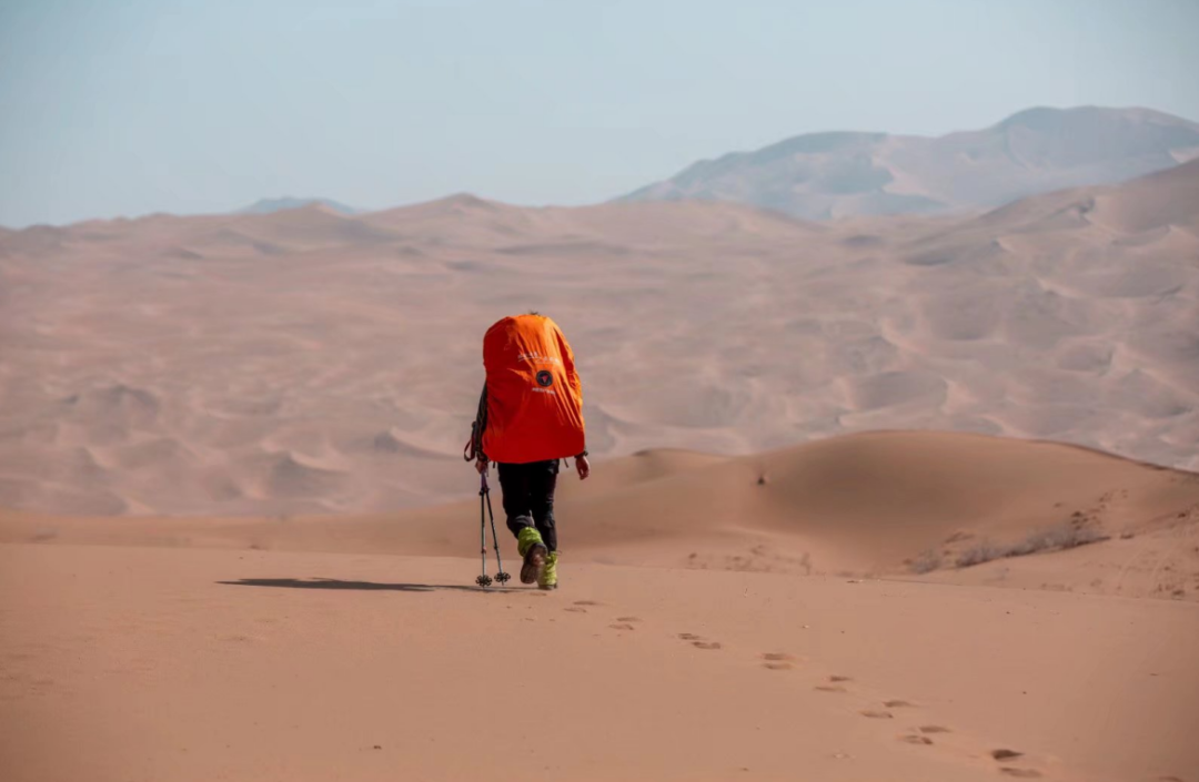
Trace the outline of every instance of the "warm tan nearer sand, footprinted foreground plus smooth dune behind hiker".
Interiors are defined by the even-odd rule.
[[[565,481],[553,593],[472,584],[478,510],[5,513],[5,778],[1199,770],[1193,473],[935,432],[645,451]]]

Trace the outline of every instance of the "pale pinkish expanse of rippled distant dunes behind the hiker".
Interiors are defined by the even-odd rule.
[[[0,505],[469,495],[482,334],[532,308],[578,352],[601,460],[939,429],[1195,469],[1197,256],[1199,162],[965,217],[457,195],[6,231]]]

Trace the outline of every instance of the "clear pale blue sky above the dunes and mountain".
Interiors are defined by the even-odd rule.
[[[1199,0],[0,0],[0,225],[607,200],[830,129],[1199,120]]]

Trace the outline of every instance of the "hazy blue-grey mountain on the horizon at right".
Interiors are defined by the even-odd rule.
[[[700,160],[622,200],[736,201],[808,219],[1001,206],[1199,157],[1199,123],[1147,109],[1036,108],[939,138],[813,133]]]

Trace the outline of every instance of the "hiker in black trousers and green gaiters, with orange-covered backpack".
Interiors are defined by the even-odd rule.
[[[583,386],[558,323],[540,313],[510,316],[483,337],[487,381],[468,453],[480,474],[498,465],[504,513],[523,558],[520,581],[558,588],[554,489],[573,457],[591,474],[583,426]]]

